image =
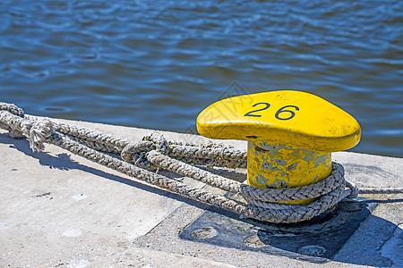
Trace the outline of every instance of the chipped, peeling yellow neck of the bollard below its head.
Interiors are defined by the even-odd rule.
[[[248,185],[259,188],[295,188],[325,179],[331,172],[330,153],[248,141]],[[287,204],[306,205],[314,199]]]

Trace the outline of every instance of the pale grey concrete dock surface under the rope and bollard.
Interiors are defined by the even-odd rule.
[[[133,141],[152,131],[66,122]],[[184,141],[208,140],[160,133]],[[244,141],[220,142],[246,148]],[[334,153],[332,158],[343,164],[346,179],[358,187],[403,187],[402,158],[348,152]],[[310,258],[304,256],[304,248],[326,248],[306,243],[291,252],[270,246],[270,240],[262,237],[242,247],[230,237],[227,241],[235,242],[227,243],[224,236],[210,242],[226,226],[248,226],[248,231],[265,227],[59,147],[46,145],[44,152],[32,153],[26,139],[11,138],[1,129],[0,170],[0,267],[403,267],[403,194],[360,195],[357,204],[369,205],[370,213],[330,258]],[[186,230],[200,223],[203,215],[221,219],[221,229],[206,226],[201,236],[193,236],[193,231],[193,239],[187,239]],[[234,236],[243,232],[240,228]]]

